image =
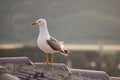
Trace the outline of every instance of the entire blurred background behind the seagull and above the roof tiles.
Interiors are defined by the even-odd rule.
[[[120,0],[0,0],[0,57],[44,62],[38,27],[31,25],[39,18],[72,51],[68,57],[55,54],[54,62],[120,76]]]

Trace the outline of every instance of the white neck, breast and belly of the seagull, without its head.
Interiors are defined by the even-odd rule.
[[[50,39],[50,35],[47,29],[47,24],[39,26],[39,36],[37,40],[38,47],[45,53],[54,53],[55,51],[49,46],[46,40]]]

